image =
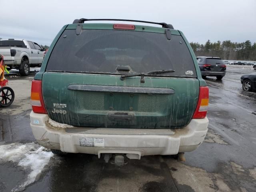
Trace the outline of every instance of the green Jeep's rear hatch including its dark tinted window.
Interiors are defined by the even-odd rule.
[[[182,128],[190,122],[199,81],[178,31],[172,30],[168,40],[159,28],[83,26],[79,35],[75,27],[64,30],[43,74],[44,104],[52,120],[95,128]],[[120,79],[170,69],[175,72],[148,74],[144,82],[141,76]]]

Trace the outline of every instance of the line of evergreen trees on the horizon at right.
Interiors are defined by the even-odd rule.
[[[196,56],[220,57],[223,60],[246,60],[256,61],[256,42],[252,44],[250,40],[242,43],[226,41],[210,42],[205,44],[198,42],[190,43]]]

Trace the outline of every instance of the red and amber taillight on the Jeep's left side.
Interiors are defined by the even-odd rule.
[[[47,114],[42,94],[42,81],[40,80],[32,80],[31,104],[33,112]]]

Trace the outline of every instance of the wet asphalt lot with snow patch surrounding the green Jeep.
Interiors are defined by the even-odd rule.
[[[123,167],[96,155],[53,155],[30,129],[30,76],[6,75],[15,92],[0,108],[0,192],[255,192],[256,92],[242,90],[240,76],[251,66],[228,66],[222,80],[207,78],[209,127],[202,145],[177,156],[143,156]]]

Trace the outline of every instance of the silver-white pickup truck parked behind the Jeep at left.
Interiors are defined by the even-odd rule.
[[[9,70],[16,68],[21,75],[29,75],[30,67],[41,66],[45,48],[28,40],[0,40],[0,54]]]

